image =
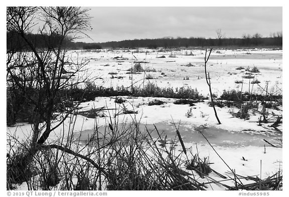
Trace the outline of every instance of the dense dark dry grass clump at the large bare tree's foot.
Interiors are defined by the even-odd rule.
[[[28,190],[51,190],[61,181],[63,174],[58,166],[58,150],[40,147],[41,150],[32,156],[31,142],[20,142],[14,136],[8,136],[8,140],[17,143],[10,147],[17,148],[17,151],[10,149],[7,158],[8,190],[23,182],[27,183]]]

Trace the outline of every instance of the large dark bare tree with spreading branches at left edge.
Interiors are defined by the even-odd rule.
[[[42,25],[41,25],[42,24]],[[35,28],[39,27],[35,32]],[[85,81],[81,78],[88,61],[74,62],[66,56],[66,44],[90,30],[88,9],[79,7],[7,7],[7,33],[16,35],[25,46],[7,45],[7,105],[22,105],[30,111],[33,135],[30,149],[15,161],[15,166],[27,167],[53,130],[60,126],[71,111],[57,117],[63,107],[62,91]],[[40,35],[42,48],[37,47],[33,33]],[[11,38],[10,41],[13,41]],[[64,72],[69,69],[70,72]],[[74,76],[77,77],[74,78]],[[22,96],[22,100],[18,96]],[[13,102],[16,99],[16,102]],[[17,112],[18,113],[18,112]]]

